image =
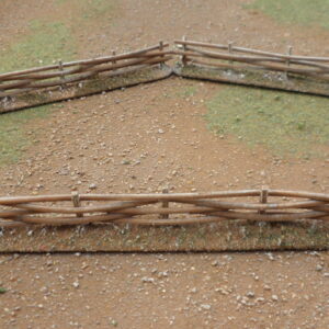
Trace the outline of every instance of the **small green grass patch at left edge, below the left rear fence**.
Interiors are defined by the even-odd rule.
[[[38,106],[0,115],[0,166],[16,162],[24,149],[35,140],[26,134],[26,125],[36,118],[46,117],[52,105]]]

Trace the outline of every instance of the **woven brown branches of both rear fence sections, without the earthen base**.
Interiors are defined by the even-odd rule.
[[[54,91],[57,87],[61,90],[72,83],[80,86],[80,82],[93,78],[112,77],[112,73],[120,73],[122,69],[151,67],[170,60],[172,55],[181,56],[183,66],[193,64],[224,69],[266,70],[283,72],[286,77],[297,75],[316,78],[316,81],[325,83],[329,81],[329,57],[293,56],[292,47],[288,48],[288,54],[277,54],[237,47],[232,43],[220,45],[186,39],[174,43],[179,49],[166,50],[169,44],[159,42],[158,45],[126,54],[113,53],[106,57],[58,61],[56,65],[0,73],[0,101],[4,104],[8,100],[15,100],[15,97],[38,90]]]

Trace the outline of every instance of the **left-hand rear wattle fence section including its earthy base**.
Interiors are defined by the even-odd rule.
[[[0,75],[0,113],[168,77],[168,44]]]

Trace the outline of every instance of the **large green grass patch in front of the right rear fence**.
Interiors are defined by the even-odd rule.
[[[227,87],[206,105],[212,131],[234,135],[249,146],[309,157],[329,145],[329,100],[325,98]]]

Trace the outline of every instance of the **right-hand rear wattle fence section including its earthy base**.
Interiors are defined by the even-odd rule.
[[[193,41],[175,41],[179,76],[329,95],[329,57],[288,54]]]

